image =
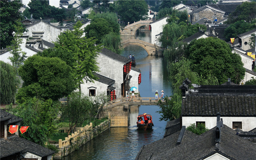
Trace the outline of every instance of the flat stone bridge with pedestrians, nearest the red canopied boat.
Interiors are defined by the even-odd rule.
[[[131,99],[131,102],[126,98],[115,99],[103,107],[100,117],[108,116],[111,119],[111,127],[128,127],[128,114],[131,106],[157,105],[159,99],[153,97],[137,97]]]

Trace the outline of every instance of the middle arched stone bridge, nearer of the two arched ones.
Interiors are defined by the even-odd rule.
[[[162,55],[161,48],[155,44],[141,41],[139,39],[128,39],[126,41],[121,42],[121,46],[123,48],[130,45],[137,45],[137,46],[143,47],[148,52],[148,55],[159,55],[159,56]]]

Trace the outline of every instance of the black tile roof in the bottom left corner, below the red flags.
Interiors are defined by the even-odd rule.
[[[18,152],[29,152],[40,157],[49,156],[55,153],[55,151],[18,137],[17,135],[8,137],[7,140],[4,138],[0,139],[0,146],[0,158],[7,157]]]

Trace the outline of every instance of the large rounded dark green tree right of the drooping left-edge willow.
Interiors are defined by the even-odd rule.
[[[71,67],[60,58],[33,55],[19,68],[23,87],[18,90],[17,102],[38,97],[58,100],[75,89]]]

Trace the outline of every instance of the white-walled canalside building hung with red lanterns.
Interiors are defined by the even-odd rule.
[[[103,48],[98,55],[97,65],[99,72],[96,73],[98,80],[84,81],[81,91],[85,96],[97,96],[99,93],[110,95],[115,90],[116,99],[125,97],[130,87],[137,87],[135,93],[139,93],[138,76],[140,72],[132,67],[129,73],[124,73],[124,65],[130,66],[131,59],[111,52]]]

